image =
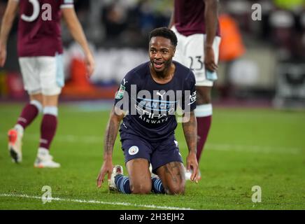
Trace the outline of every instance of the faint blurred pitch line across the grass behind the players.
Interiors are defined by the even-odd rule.
[[[6,136],[1,133],[1,136]],[[57,135],[55,141],[65,142],[65,143],[77,143],[77,144],[101,144],[103,136],[76,136],[76,135]],[[38,141],[38,134],[26,134],[26,139],[31,141]],[[207,150],[215,151],[236,151],[236,152],[246,152],[246,153],[277,153],[277,154],[294,154],[297,155],[305,151],[302,148],[284,148],[276,146],[247,146],[247,145],[235,145],[235,144],[206,144],[205,148]]]

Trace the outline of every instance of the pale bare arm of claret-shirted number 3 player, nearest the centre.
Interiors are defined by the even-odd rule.
[[[94,71],[94,57],[87,43],[87,38],[84,34],[83,27],[77,18],[74,8],[62,8],[62,15],[66,21],[66,25],[71,32],[74,40],[80,44],[85,52],[85,62],[87,64],[87,75],[91,76]]]

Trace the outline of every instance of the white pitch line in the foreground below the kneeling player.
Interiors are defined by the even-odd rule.
[[[31,195],[15,195],[15,194],[0,194],[0,197],[22,197],[29,199],[42,200],[43,197],[31,196]],[[110,204],[110,205],[122,205],[126,207],[141,207],[148,209],[165,209],[165,210],[193,210],[191,208],[181,208],[181,207],[166,207],[166,206],[158,206],[154,204],[132,204],[129,202],[102,202],[97,200],[78,200],[78,199],[65,199],[59,197],[48,197],[48,200],[52,201],[61,201],[61,202],[78,202],[78,203],[86,203],[86,204]]]

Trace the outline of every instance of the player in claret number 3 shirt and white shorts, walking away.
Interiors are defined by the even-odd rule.
[[[8,150],[13,162],[22,161],[24,130],[42,112],[41,139],[34,167],[60,167],[52,160],[49,149],[57,128],[58,98],[64,86],[62,17],[85,52],[88,76],[94,71],[94,59],[76,17],[73,0],[9,0],[1,25],[0,66],[6,62],[6,43],[18,8],[17,51],[24,89],[30,101],[15,127],[8,131]]]

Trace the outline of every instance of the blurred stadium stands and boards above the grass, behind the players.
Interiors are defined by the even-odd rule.
[[[262,6],[260,21],[252,19],[254,3]],[[5,6],[6,1],[1,1],[0,18]],[[221,1],[222,36],[227,40],[227,36],[238,38],[241,34],[241,40],[232,45],[236,39],[233,37],[233,41],[231,38],[222,43],[215,100],[254,98],[269,106],[283,106],[283,99],[299,99],[301,102],[297,102],[304,105],[303,6],[304,1]],[[111,98],[126,71],[147,60],[148,32],[168,25],[171,0],[76,0],[75,7],[92,43],[97,69],[90,83],[82,80],[77,60],[80,49],[72,42],[68,29],[63,29],[67,84],[63,97]],[[8,61],[1,69],[1,99],[26,97],[17,64],[16,33],[17,21],[9,38]]]

